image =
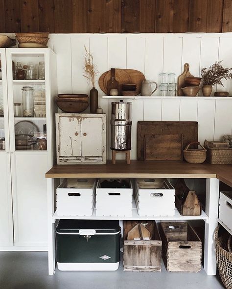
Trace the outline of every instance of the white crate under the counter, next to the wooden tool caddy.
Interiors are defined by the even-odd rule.
[[[136,179],[134,197],[139,216],[175,215],[175,189],[166,179]]]

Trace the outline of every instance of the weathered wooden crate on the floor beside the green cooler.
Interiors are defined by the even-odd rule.
[[[127,240],[127,233],[138,223],[148,223],[150,241]],[[124,271],[161,271],[162,242],[155,221],[124,221]]]

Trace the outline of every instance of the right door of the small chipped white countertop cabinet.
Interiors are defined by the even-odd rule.
[[[103,121],[102,117],[83,118],[81,123],[82,162],[102,162]]]

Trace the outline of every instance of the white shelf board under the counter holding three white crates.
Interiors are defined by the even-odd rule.
[[[93,215],[90,217],[83,217],[83,216],[69,216],[69,215],[58,215],[56,212],[52,216],[52,221],[55,223],[57,219],[74,219],[74,220],[162,220],[162,221],[169,221],[169,220],[205,220],[206,223],[209,222],[209,217],[206,215],[204,211],[202,211],[201,216],[181,216],[177,208],[175,208],[175,215],[174,216],[139,216],[138,211],[136,208],[135,201],[133,201],[133,209],[132,209],[132,217],[127,216],[96,216],[96,208],[93,210]]]

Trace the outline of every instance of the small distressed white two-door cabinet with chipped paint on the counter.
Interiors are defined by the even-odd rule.
[[[57,164],[106,164],[105,114],[56,114]]]

